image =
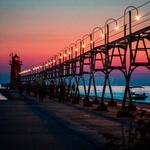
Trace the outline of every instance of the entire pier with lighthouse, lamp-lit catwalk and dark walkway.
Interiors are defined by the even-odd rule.
[[[149,150],[150,103],[138,100],[150,87],[131,84],[139,68],[150,75],[149,8],[128,6],[26,69],[11,53],[10,83],[0,85],[0,150]],[[112,74],[124,80],[121,94]]]

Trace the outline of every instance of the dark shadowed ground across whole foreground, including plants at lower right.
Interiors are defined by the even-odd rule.
[[[1,91],[0,150],[149,150],[149,105],[137,104],[130,117],[117,117],[120,104],[95,111],[70,102]],[[106,101],[107,103],[107,101]]]

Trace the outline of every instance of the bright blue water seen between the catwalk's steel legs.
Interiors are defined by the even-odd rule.
[[[88,86],[86,86],[86,88],[88,88]],[[144,86],[144,88],[145,88],[144,92],[146,93],[148,97],[145,100],[136,100],[136,102],[150,103],[150,86]],[[97,96],[101,97],[103,86],[96,86],[96,89],[97,89]],[[123,95],[124,95],[124,89],[125,89],[124,86],[112,86],[114,99],[122,100]],[[84,95],[83,86],[80,86],[79,90],[80,90],[80,94]],[[94,95],[95,95],[94,88],[91,87],[90,96],[94,96]],[[106,87],[105,98],[110,98],[110,92],[109,92],[108,86]]]

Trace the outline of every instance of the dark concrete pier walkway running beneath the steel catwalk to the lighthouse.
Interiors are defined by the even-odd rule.
[[[116,108],[108,112],[92,109],[57,99],[39,103],[14,94],[0,101],[0,149],[105,149],[107,138],[120,139],[130,119],[117,118]]]

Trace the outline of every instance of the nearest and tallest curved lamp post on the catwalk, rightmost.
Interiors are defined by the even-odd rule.
[[[132,33],[132,25],[131,25],[131,11],[132,10],[135,10],[136,13],[137,13],[137,16],[136,16],[136,20],[139,20],[140,17],[139,17],[139,11],[138,11],[138,8],[135,7],[135,6],[128,6],[125,10],[124,10],[124,36],[126,36],[126,28],[127,28],[127,25],[126,25],[126,14],[127,14],[127,10],[129,12],[129,34]]]

